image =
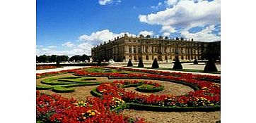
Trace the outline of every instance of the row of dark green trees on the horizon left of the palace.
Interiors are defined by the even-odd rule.
[[[86,54],[83,54],[82,56],[76,55],[72,56],[69,58],[69,56],[57,56],[57,55],[52,55],[52,56],[36,56],[37,63],[61,63],[61,62],[66,62],[66,61],[71,61],[71,62],[79,62],[82,61],[84,62],[85,60],[90,60],[90,57],[87,56]]]

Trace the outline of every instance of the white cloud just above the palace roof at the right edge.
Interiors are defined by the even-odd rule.
[[[221,41],[220,36],[216,34],[212,34],[213,30],[215,30],[214,25],[206,27],[204,30],[196,33],[190,33],[187,30],[183,30],[181,32],[181,36],[187,39],[195,39],[196,41],[207,41],[207,42]]]

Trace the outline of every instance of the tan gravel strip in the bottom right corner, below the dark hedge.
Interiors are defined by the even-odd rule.
[[[141,117],[149,123],[216,123],[221,112],[153,112],[145,110],[124,110],[124,115]]]

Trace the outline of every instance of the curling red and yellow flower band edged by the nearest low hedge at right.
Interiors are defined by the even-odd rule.
[[[172,95],[139,95],[134,91],[124,91],[122,89],[124,85],[135,85],[138,82],[122,82],[115,81],[107,84],[100,84],[96,91],[98,93],[94,93],[94,95],[98,94],[98,96],[120,96],[122,100],[127,103],[139,104],[139,105],[155,105],[158,108],[179,108],[190,111],[192,110],[219,110],[220,108],[220,93],[219,86],[215,84],[209,86],[202,87],[201,89],[190,92],[185,96],[172,96]],[[138,85],[136,85],[138,86]],[[100,93],[100,95],[99,95]],[[185,108],[184,108],[185,107]],[[151,108],[152,109],[152,108]]]

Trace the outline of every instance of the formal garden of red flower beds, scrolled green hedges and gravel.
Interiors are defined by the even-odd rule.
[[[37,74],[37,122],[219,122],[221,78],[86,67]]]

